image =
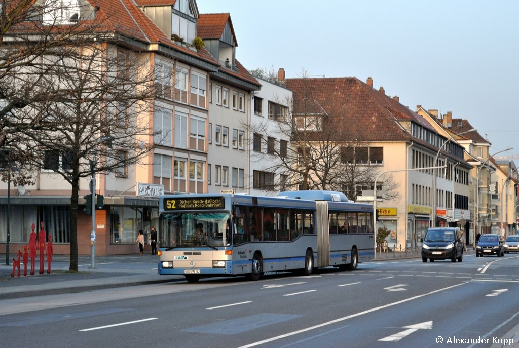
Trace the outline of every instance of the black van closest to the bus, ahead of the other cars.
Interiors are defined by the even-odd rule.
[[[422,261],[450,259],[463,261],[463,243],[459,227],[434,227],[427,230],[422,242]]]

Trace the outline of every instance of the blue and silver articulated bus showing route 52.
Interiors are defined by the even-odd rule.
[[[374,258],[373,207],[333,191],[171,194],[159,201],[158,273],[248,276],[357,269]]]

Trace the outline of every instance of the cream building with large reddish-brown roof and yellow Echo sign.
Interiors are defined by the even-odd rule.
[[[391,231],[388,246],[416,248],[429,226],[453,224],[456,211],[469,217],[472,166],[463,158],[463,147],[400,104],[397,96],[387,96],[382,87],[374,89],[371,78],[367,83],[357,78],[287,79],[286,86],[293,91],[294,101],[317,101],[325,111],[323,122],[333,122],[337,131],[345,124],[353,125],[346,129],[356,132],[353,140],[344,133],[344,142],[354,147],[345,161],[356,162],[364,173],[371,172],[370,179],[347,196],[362,196],[363,190],[373,190],[375,185],[378,192],[384,192],[389,182],[397,183],[393,192],[380,194],[380,198],[377,193],[374,202],[379,211],[376,227]],[[294,110],[296,113],[301,110]],[[444,169],[434,170],[434,166]],[[373,200],[373,191],[371,195]],[[440,213],[434,224],[433,209]]]

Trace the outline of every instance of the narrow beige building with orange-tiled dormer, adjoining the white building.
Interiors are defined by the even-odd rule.
[[[220,64],[209,83],[208,192],[247,192],[251,101],[261,86],[236,59],[238,42],[229,13],[200,15],[198,35]]]

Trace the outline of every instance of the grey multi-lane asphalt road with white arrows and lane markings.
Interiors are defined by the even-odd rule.
[[[354,272],[176,281],[3,301],[20,301],[20,308],[0,315],[0,345],[506,346],[519,325],[518,259],[472,254],[461,263],[368,262]]]

